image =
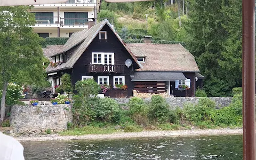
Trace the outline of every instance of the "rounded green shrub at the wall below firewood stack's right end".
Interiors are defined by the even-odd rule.
[[[167,122],[169,119],[169,105],[160,95],[153,95],[150,102],[149,115],[159,123]]]

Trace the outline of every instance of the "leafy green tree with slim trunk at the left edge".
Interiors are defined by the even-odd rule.
[[[45,82],[43,69],[43,40],[33,33],[34,13],[29,6],[0,7],[0,77],[2,79],[1,120],[4,119],[4,106],[7,84],[42,84]]]

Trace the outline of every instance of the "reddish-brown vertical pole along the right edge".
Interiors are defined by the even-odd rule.
[[[255,160],[255,0],[243,0],[243,159]]]

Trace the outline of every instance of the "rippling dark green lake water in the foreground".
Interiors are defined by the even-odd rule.
[[[242,135],[22,142],[25,159],[243,159]]]

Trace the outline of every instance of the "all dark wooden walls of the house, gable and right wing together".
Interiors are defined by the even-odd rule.
[[[133,89],[138,93],[164,93],[167,90],[167,82],[148,82],[140,81],[134,82],[131,75],[134,74],[135,69],[140,68],[133,60],[130,53],[125,49],[123,44],[116,37],[115,33],[105,25],[102,31],[107,31],[107,39],[99,39],[99,34],[93,39],[91,44],[86,48],[84,53],[76,61],[72,69],[58,71],[57,75],[53,75],[53,79],[60,78],[62,74],[68,73],[71,75],[71,83],[75,85],[77,81],[81,81],[83,76],[91,76],[98,83],[99,76],[108,76],[111,89],[105,93],[107,97],[131,97]],[[79,45],[63,54],[63,60],[70,57],[70,54],[77,49]],[[93,64],[93,52],[114,53],[113,65],[99,65]],[[132,65],[128,68],[125,66],[127,59],[132,60]],[[102,59],[103,60],[103,59]],[[156,64],[157,65],[157,64]],[[189,90],[178,90],[175,88],[175,82],[170,82],[170,93],[174,97],[194,97],[196,86],[202,86],[202,79],[195,81],[195,72],[183,73],[186,78],[190,79]],[[124,76],[127,90],[113,89],[114,76]],[[200,80],[200,81],[199,81]]]

